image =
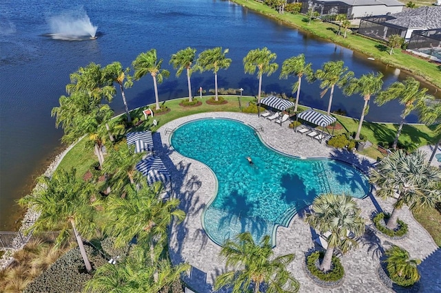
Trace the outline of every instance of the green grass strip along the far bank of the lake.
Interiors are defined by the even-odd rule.
[[[387,45],[385,43],[373,39],[367,39],[358,34],[351,34],[351,32],[348,32],[347,38],[344,39],[342,36],[338,36],[334,33],[338,30],[338,25],[335,25],[334,23],[322,23],[321,21],[311,21],[311,23],[308,23],[307,21],[305,22],[306,17],[302,14],[291,14],[286,12],[282,15],[278,14],[276,10],[269,8],[269,6],[257,1],[233,1],[304,32],[309,32],[322,39],[331,41],[332,43],[342,45],[343,47],[347,47],[369,57],[376,58],[387,65],[405,69],[411,72],[411,74],[420,76],[429,83],[441,88],[441,67],[439,67],[439,64],[429,63],[422,58],[404,54],[400,50],[394,50],[395,54],[389,55],[389,50],[387,50]],[[386,48],[386,50],[384,48]]]

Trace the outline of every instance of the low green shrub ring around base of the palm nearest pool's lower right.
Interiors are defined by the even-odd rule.
[[[311,255],[307,257],[307,268],[309,272],[322,281],[335,282],[342,279],[342,277],[345,275],[345,268],[343,268],[342,263],[340,263],[340,259],[335,255],[332,256],[332,265],[329,272],[323,272],[317,268],[317,261],[320,261],[323,259],[323,257],[325,257],[325,253],[321,251],[312,252]]]

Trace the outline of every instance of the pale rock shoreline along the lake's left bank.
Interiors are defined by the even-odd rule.
[[[43,176],[51,177],[55,170],[57,170],[61,160],[63,160],[66,153],[68,153],[72,147],[75,145],[71,144],[68,146],[67,149],[59,153],[54,160],[50,163],[48,166],[48,169],[43,173]],[[31,194],[34,194],[35,192],[39,191],[40,188],[44,188],[43,185],[37,184],[34,188],[32,188]],[[30,228],[34,224],[34,222],[38,219],[39,213],[37,213],[35,210],[32,210],[31,208],[28,209],[23,217],[23,220],[21,221],[21,226],[19,228],[19,232],[21,232],[22,235],[25,235],[25,231]],[[14,248],[6,250],[6,252],[3,254],[3,256],[0,259],[0,270],[4,270],[5,268],[14,261],[14,253],[23,248],[23,243],[21,243],[21,240],[16,238],[13,241]]]

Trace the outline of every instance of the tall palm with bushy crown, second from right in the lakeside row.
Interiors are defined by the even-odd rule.
[[[413,110],[421,110],[428,100],[433,100],[433,96],[427,95],[426,92],[426,88],[420,89],[420,82],[418,80],[408,77],[404,80],[404,83],[397,81],[378,94],[375,102],[379,106],[395,99],[398,99],[400,104],[404,105],[404,109],[401,113],[401,123],[398,127],[395,140],[393,140],[393,149],[397,149],[398,138],[400,138],[402,126],[404,125],[406,117]]]

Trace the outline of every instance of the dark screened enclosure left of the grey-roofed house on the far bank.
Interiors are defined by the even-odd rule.
[[[398,34],[404,38],[406,36],[407,28],[386,22],[390,21],[391,19],[395,19],[395,17],[391,17],[389,15],[363,17],[360,20],[358,34],[369,36],[373,39],[378,39],[381,41],[389,41],[389,36],[393,34]]]

